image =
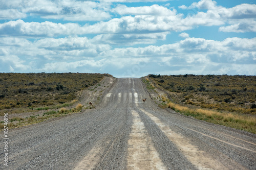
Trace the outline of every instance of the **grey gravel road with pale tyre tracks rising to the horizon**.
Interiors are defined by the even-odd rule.
[[[135,78],[117,79],[96,109],[8,135],[0,169],[256,169],[255,134],[161,109]]]

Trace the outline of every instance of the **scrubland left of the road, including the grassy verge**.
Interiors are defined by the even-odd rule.
[[[0,116],[4,113],[17,114],[9,119],[8,127],[22,127],[46,119],[77,113],[84,107],[77,100],[81,90],[89,89],[109,74],[79,73],[0,73]],[[37,112],[42,110],[42,112]],[[26,114],[27,115],[27,114]],[[0,122],[3,128],[3,121]]]

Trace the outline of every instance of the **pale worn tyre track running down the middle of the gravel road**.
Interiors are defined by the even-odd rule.
[[[143,122],[137,112],[132,111],[133,126],[128,140],[127,169],[166,169]]]

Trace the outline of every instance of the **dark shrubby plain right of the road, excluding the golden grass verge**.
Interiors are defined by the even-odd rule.
[[[256,76],[148,75],[174,102],[201,108],[256,114]]]

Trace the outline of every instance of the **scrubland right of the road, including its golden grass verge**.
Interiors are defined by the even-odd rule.
[[[256,76],[148,75],[168,91],[162,108],[256,133]],[[150,80],[145,80],[151,88]]]

